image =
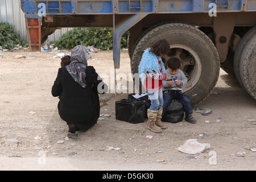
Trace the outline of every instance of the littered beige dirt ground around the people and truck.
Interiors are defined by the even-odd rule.
[[[57,52],[59,53],[59,52]],[[115,119],[114,103],[127,94],[101,96],[101,113],[111,116],[99,120],[77,139],[66,140],[67,125],[57,112],[58,98],[51,87],[60,67],[55,54],[42,52],[1,52],[0,57],[0,169],[72,169],[72,170],[255,170],[256,102],[237,81],[221,70],[214,91],[200,107],[213,110],[209,116],[194,112],[198,123],[172,124],[163,133],[146,130],[144,123],[133,125]],[[25,55],[26,59],[15,59]],[[36,59],[28,59],[35,56]],[[96,71],[113,69],[111,51],[93,53],[88,64]],[[117,73],[130,73],[127,51],[121,53]],[[109,100],[109,98],[111,98]],[[30,114],[34,111],[35,114]],[[195,111],[195,108],[194,108]],[[220,119],[220,122],[214,122]],[[206,123],[205,120],[209,120]],[[203,137],[199,137],[203,134]],[[146,140],[152,135],[152,140]],[[35,139],[35,137],[40,137]],[[19,140],[18,145],[7,139]],[[197,159],[177,151],[188,139],[210,143],[211,148]],[[64,140],[64,143],[57,143]],[[106,151],[108,146],[121,150]],[[158,153],[161,151],[161,153]],[[209,152],[217,154],[217,164],[209,164]],[[45,153],[44,153],[45,152]],[[237,152],[246,152],[238,156]],[[44,154],[46,158],[44,157]],[[164,162],[156,162],[162,158]],[[45,160],[45,164],[39,161]]]

